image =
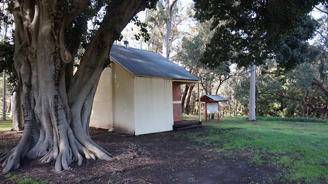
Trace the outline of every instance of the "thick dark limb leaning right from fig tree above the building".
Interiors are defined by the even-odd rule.
[[[146,1],[111,1],[103,22],[86,47],[80,65],[73,76],[68,92],[69,104],[81,107],[77,99],[85,98],[99,80],[101,71],[109,61],[110,49],[117,35],[139,11],[146,9]],[[80,93],[83,91],[83,93]],[[79,94],[76,96],[76,94]]]

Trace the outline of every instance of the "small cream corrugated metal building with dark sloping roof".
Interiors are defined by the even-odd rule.
[[[156,52],[113,45],[110,60],[99,79],[90,127],[133,135],[171,131],[182,121],[181,85],[198,83],[199,92],[197,77]]]

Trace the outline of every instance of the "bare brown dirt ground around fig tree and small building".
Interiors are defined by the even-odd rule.
[[[206,128],[206,127],[205,127]],[[91,129],[92,139],[114,155],[111,161],[84,160],[72,170],[57,173],[54,164],[28,160],[11,174],[51,183],[263,183],[273,182],[277,169],[256,166],[251,153],[235,151],[231,156],[207,151],[179,134],[184,131],[131,136]],[[0,155],[13,148],[23,132],[0,132]],[[15,183],[0,174],[0,183]]]

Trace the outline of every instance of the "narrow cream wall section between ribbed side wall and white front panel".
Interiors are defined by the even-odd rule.
[[[115,75],[115,132],[134,133],[134,76],[119,65]]]

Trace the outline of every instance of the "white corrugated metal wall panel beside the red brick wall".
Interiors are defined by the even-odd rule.
[[[173,130],[172,80],[135,77],[135,135]]]

